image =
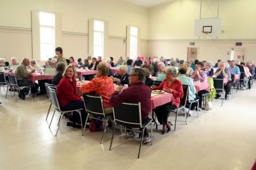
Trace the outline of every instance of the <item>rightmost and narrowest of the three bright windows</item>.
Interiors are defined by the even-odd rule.
[[[138,53],[138,27],[131,27],[130,31],[130,57],[137,57]]]

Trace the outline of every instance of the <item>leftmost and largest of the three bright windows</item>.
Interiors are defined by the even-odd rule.
[[[54,56],[55,50],[55,14],[40,12],[40,59],[47,61]]]

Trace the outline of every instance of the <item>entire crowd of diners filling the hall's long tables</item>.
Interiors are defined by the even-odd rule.
[[[4,70],[5,60],[0,58],[0,72],[4,72],[4,75],[8,77],[8,72],[15,70],[18,85],[30,86],[31,93],[35,93],[39,86],[39,93],[44,94],[45,82],[56,85],[61,110],[83,109],[83,123],[85,123],[86,111],[84,109],[84,101],[77,91],[77,67],[97,70],[92,81],[83,84],[79,90],[81,93],[100,95],[106,114],[112,113],[113,107],[123,102],[140,102],[142,123],[147,122],[148,114],[151,112],[150,98],[152,90],[159,89],[166,91],[166,93],[172,93],[173,102],[168,102],[154,109],[157,120],[163,125],[163,134],[170,132],[171,129],[172,123],[168,121],[169,112],[179,107],[180,98],[184,96],[182,84],[188,85],[188,103],[199,99],[199,105],[192,104],[191,111],[193,111],[195,107],[199,110],[203,108],[203,96],[205,93],[209,93],[209,89],[202,89],[196,93],[194,82],[207,83],[207,77],[227,79],[228,81],[225,84],[225,99],[227,99],[227,95],[230,93],[234,83],[232,75],[244,73],[244,81],[241,84],[241,88],[244,88],[244,86],[250,88],[250,81],[248,80],[255,76],[255,65],[253,65],[252,61],[247,62],[245,65],[244,63],[239,63],[239,61],[227,61],[224,63],[219,60],[216,63],[216,68],[214,68],[211,61],[200,62],[197,59],[195,61],[193,59],[189,61],[175,59],[168,64],[163,58],[145,58],[142,61],[138,57],[136,61],[129,58],[124,61],[120,56],[116,64],[114,64],[113,58],[107,58],[106,62],[104,62],[100,56],[98,59],[88,56],[87,59],[84,59],[84,63],[81,63],[81,59],[76,63],[74,58],[70,57],[69,63],[63,57],[61,47],[58,47],[56,48],[56,57],[52,58],[51,61],[49,59],[49,61],[45,62],[45,68],[56,69],[52,80],[38,81],[39,85],[36,85],[35,82],[28,80],[31,73],[40,72],[41,67],[36,64],[35,60],[29,61],[28,58],[24,58],[20,65],[17,64],[15,58],[11,60],[10,70]],[[113,66],[118,67],[117,74],[111,72]],[[159,86],[156,86],[156,81],[151,79],[152,76],[156,77],[157,82],[160,82]],[[114,86],[114,84],[118,86]],[[129,87],[122,88],[124,85]],[[22,99],[26,95],[28,95],[28,89],[22,89],[19,93],[19,97]],[[218,97],[220,96],[216,96],[216,98]],[[188,110],[186,108],[182,112],[191,115]],[[143,143],[148,143],[152,139],[147,130],[143,137]]]

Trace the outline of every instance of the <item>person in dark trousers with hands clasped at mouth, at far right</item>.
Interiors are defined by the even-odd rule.
[[[214,75],[217,78],[220,78],[220,79],[223,79],[223,78],[228,79],[227,84],[225,84],[225,86],[224,86],[224,88],[225,88],[225,100],[227,100],[228,94],[229,94],[230,89],[232,87],[232,79],[231,79],[230,71],[225,67],[225,65],[223,64],[222,61],[220,61],[218,63],[218,69],[216,70]],[[216,98],[220,98],[220,95],[216,95]]]

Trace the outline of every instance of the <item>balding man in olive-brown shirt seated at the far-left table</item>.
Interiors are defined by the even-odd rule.
[[[17,84],[18,84],[18,86],[30,86],[31,93],[35,93],[36,88],[35,88],[33,82],[28,81],[29,75],[31,75],[31,73],[34,73],[35,69],[31,70],[31,72],[28,72],[28,70],[26,69],[26,66],[29,66],[28,58],[24,58],[22,63],[17,67],[17,69],[15,71],[15,76],[17,78]],[[28,93],[29,93],[29,90],[24,88],[24,89],[20,90],[19,97],[22,100],[24,100],[26,95],[28,95]]]

